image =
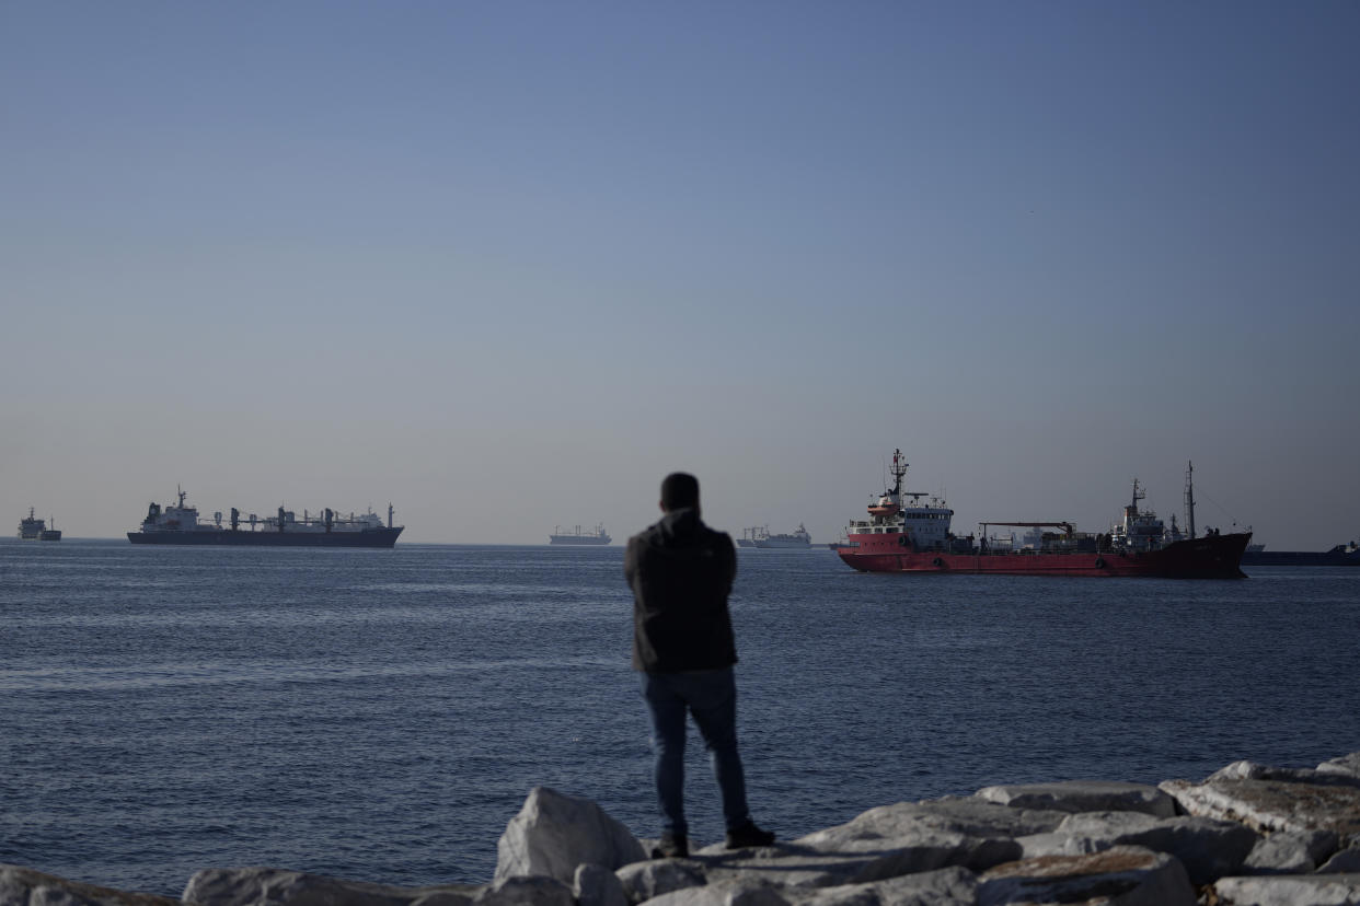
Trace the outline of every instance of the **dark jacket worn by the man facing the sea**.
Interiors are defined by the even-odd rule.
[[[728,594],[737,553],[695,509],[673,509],[628,539],[623,575],[632,587],[632,668],[657,674],[737,663]]]

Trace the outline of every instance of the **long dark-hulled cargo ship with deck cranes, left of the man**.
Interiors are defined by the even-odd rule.
[[[299,520],[291,509],[279,507],[277,516],[260,519],[254,513],[241,519],[231,509],[228,524],[222,524],[222,513],[212,513],[211,523],[199,522],[199,509],[185,507],[185,492],[180,503],[162,508],[147,507],[147,518],[140,531],[129,531],[135,545],[242,545],[252,547],[392,547],[404,526],[392,524],[392,505],[388,505],[388,524],[374,512],[341,516],[324,509],[316,516],[302,512]]]

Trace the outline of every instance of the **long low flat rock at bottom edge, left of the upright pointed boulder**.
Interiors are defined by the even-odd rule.
[[[205,868],[184,888],[199,906],[465,906],[480,891],[471,884],[390,887],[283,868]]]

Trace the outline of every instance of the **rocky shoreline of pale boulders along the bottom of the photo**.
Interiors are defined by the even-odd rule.
[[[0,865],[0,906],[1360,905],[1360,751],[1316,769],[1235,762],[1200,782],[987,786],[690,858],[649,848],[593,801],[540,786],[487,884],[208,868],[171,899]]]

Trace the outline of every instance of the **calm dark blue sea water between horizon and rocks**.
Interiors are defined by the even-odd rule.
[[[534,785],[656,833],[623,551],[0,542],[0,863],[483,883]],[[741,550],[758,820],[1360,750],[1360,570],[903,577]],[[698,743],[695,837],[721,837]]]

